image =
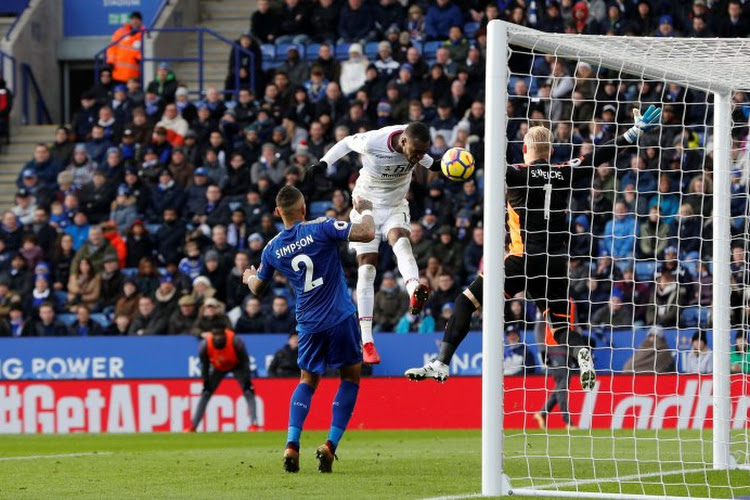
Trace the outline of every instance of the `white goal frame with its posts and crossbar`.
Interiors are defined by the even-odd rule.
[[[648,495],[513,488],[504,469],[503,261],[506,103],[509,45],[644,79],[674,82],[713,96],[713,432],[712,463],[728,470],[730,426],[730,175],[732,94],[750,88],[750,40],[604,37],[543,33],[499,20],[488,25],[484,169],[484,304],[482,370],[482,495],[636,498]],[[668,495],[660,498],[668,498]]]

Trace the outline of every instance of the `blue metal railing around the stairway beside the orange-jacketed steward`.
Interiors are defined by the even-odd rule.
[[[250,52],[247,49],[242,48],[238,43],[235,43],[233,40],[230,40],[226,37],[221,36],[220,34],[216,33],[215,31],[208,29],[208,28],[147,28],[143,31],[144,37],[150,37],[151,33],[157,33],[157,32],[167,32],[167,33],[197,33],[198,34],[198,56],[197,57],[146,57],[145,56],[145,43],[141,43],[141,60],[139,62],[140,65],[140,79],[141,79],[141,86],[142,88],[146,88],[146,85],[143,81],[143,67],[144,64],[147,62],[193,62],[198,63],[198,89],[197,93],[199,96],[203,95],[203,81],[204,81],[204,62],[203,62],[203,45],[204,45],[204,37],[206,35],[211,36],[213,38],[216,38],[217,40],[220,40],[224,42],[229,47],[235,49],[234,50],[234,90],[232,91],[222,91],[223,93],[229,93],[234,96],[234,99],[237,99],[237,95],[239,93],[240,89],[240,54],[245,54],[250,57],[250,87],[255,88],[255,54]],[[99,52],[97,52],[94,55],[94,84],[99,82],[99,72],[102,70],[103,67],[107,65],[106,62],[106,54],[107,50],[117,45],[117,43],[120,42],[123,38],[129,36],[128,34],[125,34],[118,38],[117,40],[109,43],[106,47],[101,49]]]

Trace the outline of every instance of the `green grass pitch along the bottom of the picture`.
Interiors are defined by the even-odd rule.
[[[518,488],[531,486],[529,477],[540,486],[549,483],[552,475],[566,482],[651,473],[659,471],[660,464],[662,471],[674,471],[710,463],[710,435],[705,432],[661,431],[657,440],[654,432],[644,431],[637,437],[632,431],[614,437],[609,431],[508,433],[506,469]],[[319,474],[314,459],[314,449],[325,434],[303,436],[302,470],[295,475],[281,471],[284,438],[278,432],[2,436],[0,458],[98,454],[0,460],[0,498],[412,499],[480,489],[481,445],[476,431],[349,432],[331,475]],[[735,438],[740,442],[743,435]],[[750,495],[748,471],[601,481],[578,488],[687,495],[685,483],[691,484],[692,496]]]

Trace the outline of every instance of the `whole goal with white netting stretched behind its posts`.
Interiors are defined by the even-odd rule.
[[[487,60],[482,493],[750,495],[750,41],[492,21]],[[650,105],[661,124],[599,162]],[[601,163],[572,175],[563,238],[591,391],[549,342],[539,297],[498,286],[507,165],[524,163],[539,125],[551,163],[592,152]]]

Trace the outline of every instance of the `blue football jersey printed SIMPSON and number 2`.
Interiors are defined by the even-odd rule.
[[[258,278],[271,281],[278,271],[292,284],[299,333],[327,330],[355,313],[338,247],[350,230],[349,222],[331,218],[301,222],[263,249]]]

